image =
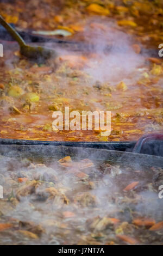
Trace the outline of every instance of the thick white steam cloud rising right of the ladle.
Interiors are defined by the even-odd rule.
[[[133,72],[145,61],[145,58],[136,54],[131,47],[135,44],[134,40],[111,21],[103,22],[101,26],[107,30],[96,28],[92,31],[90,27],[86,30],[85,38],[95,45],[97,54],[97,58],[90,60],[91,68],[86,71],[101,82],[118,82],[134,75]]]

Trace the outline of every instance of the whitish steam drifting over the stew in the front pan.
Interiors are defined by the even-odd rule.
[[[90,241],[87,241],[88,243],[96,243],[96,239],[92,237],[101,235],[101,232],[104,233],[103,242],[110,241],[110,239],[116,241],[113,225],[105,228],[103,224],[104,226],[99,225],[97,229],[93,229],[90,228],[93,220],[104,217],[118,218],[120,223],[117,227],[123,222],[128,222],[128,225],[131,225],[132,218],[137,216],[154,218],[156,222],[162,221],[162,202],[158,199],[156,187],[152,188],[150,185],[152,191],[147,189],[152,183],[154,175],[150,167],[143,167],[138,163],[131,166],[130,164],[121,164],[122,156],[117,159],[118,162],[97,161],[100,154],[106,154],[105,150],[99,150],[97,156],[98,150],[92,150],[92,153],[89,154],[89,150],[74,148],[73,150],[76,151],[74,162],[79,162],[83,156],[88,154],[94,166],[80,170],[76,164],[76,168],[67,169],[60,167],[55,159],[61,157],[59,156],[60,149],[63,150],[61,151],[63,153],[68,148],[61,147],[58,150],[56,148],[54,151],[51,149],[49,156],[47,156],[46,148],[38,147],[37,149],[35,146],[29,148],[31,150],[28,151],[29,157],[1,156],[1,185],[4,186],[5,199],[18,198],[17,191],[20,191],[24,185],[26,186],[26,183],[18,184],[19,177],[39,182],[35,192],[19,197],[16,206],[11,203],[12,200],[11,202],[4,200],[4,205],[2,205],[2,201],[0,202],[0,211],[3,214],[4,209],[7,209],[2,215],[2,221],[14,218],[16,220],[16,222],[13,221],[14,225],[17,225],[15,223],[18,222],[33,222],[34,225],[40,224],[46,231],[38,240],[26,240],[15,231],[14,237],[12,237],[12,233],[5,235],[2,238],[3,243],[56,245],[63,242],[65,244],[82,242],[83,244],[82,237],[84,236],[91,237]],[[44,157],[32,157],[34,150],[39,155],[42,153]],[[44,153],[43,150],[45,150]],[[27,151],[21,151],[20,155],[27,154]],[[54,153],[56,154],[52,157],[51,155]],[[11,150],[10,154],[13,155],[14,151]],[[159,170],[161,171],[158,168],[157,172]],[[79,178],[77,174],[81,171],[88,175],[87,178]],[[90,187],[90,181],[95,186]],[[124,192],[124,187],[133,181],[139,181],[136,190]],[[57,190],[57,196],[51,199],[46,192],[49,187]],[[87,196],[83,197],[85,194]],[[70,200],[70,203],[65,204],[62,201],[63,195]],[[87,204],[88,202],[90,203]],[[65,218],[64,212],[72,212],[74,216]],[[143,234],[143,230],[140,232]]]

